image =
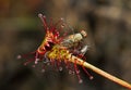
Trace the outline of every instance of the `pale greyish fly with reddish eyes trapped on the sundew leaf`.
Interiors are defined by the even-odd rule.
[[[74,55],[84,55],[88,49],[88,46],[83,42],[85,37],[86,33],[82,30],[78,34],[69,35],[60,42],[60,44],[66,47]]]

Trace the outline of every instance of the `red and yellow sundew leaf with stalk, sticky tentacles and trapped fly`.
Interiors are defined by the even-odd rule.
[[[64,65],[64,67],[69,69],[69,73],[73,73],[78,76],[79,82],[81,83],[83,80],[80,76],[79,65],[83,68],[90,79],[93,79],[93,76],[86,70],[86,68],[92,69],[98,75],[127,89],[131,89],[131,85],[127,81],[121,80],[86,62],[84,54],[88,50],[88,46],[81,46],[83,39],[87,37],[87,33],[85,30],[80,30],[80,33],[69,35],[68,31],[72,29],[63,18],[53,23],[52,18],[47,22],[46,16],[43,14],[38,14],[38,16],[43,22],[46,35],[36,51],[17,56],[17,59],[27,60],[24,65],[33,63],[35,66],[38,63],[43,63],[43,72],[46,69],[46,64],[52,65],[59,70],[62,70]]]

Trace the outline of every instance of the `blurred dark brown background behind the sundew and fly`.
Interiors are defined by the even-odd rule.
[[[81,70],[83,83],[68,70],[24,66],[19,54],[37,49],[45,31],[38,13],[66,21],[88,34],[91,64],[131,82],[131,0],[0,0],[0,90],[126,90]]]

